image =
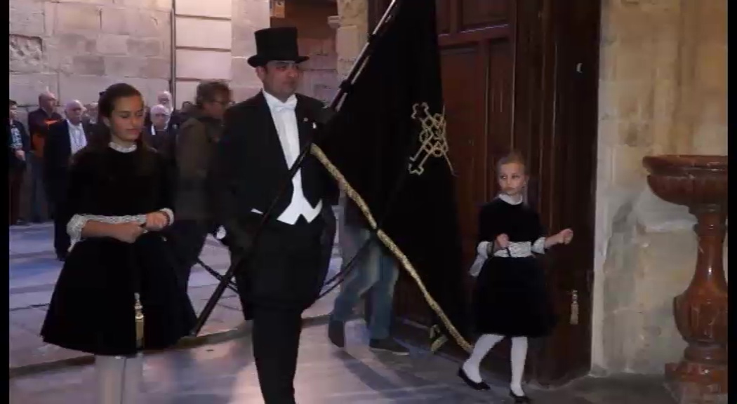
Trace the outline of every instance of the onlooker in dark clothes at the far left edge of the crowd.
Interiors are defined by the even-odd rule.
[[[25,224],[19,216],[21,205],[21,185],[26,173],[26,158],[30,150],[31,140],[26,128],[23,127],[18,116],[18,102],[10,100],[10,120],[7,126],[7,160],[8,160],[8,185],[10,185],[9,196],[9,224]]]

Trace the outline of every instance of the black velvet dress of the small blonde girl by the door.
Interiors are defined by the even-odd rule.
[[[500,234],[511,243],[534,244],[544,237],[537,212],[497,198],[481,208],[479,241],[493,242]],[[489,257],[476,280],[474,306],[478,333],[539,337],[548,335],[556,322],[545,273],[534,255]]]

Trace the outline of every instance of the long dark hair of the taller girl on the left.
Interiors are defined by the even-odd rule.
[[[85,152],[105,152],[108,150],[108,144],[111,141],[112,133],[107,124],[105,124],[105,118],[110,120],[115,110],[115,104],[119,99],[138,96],[143,100],[143,95],[138,89],[132,85],[120,82],[113,84],[106,88],[105,91],[100,93],[99,101],[97,102],[97,116],[98,121],[94,126],[91,138],[87,143],[87,146],[83,150],[77,153],[77,156],[83,155]],[[136,159],[139,160],[139,164],[136,165],[142,171],[147,171],[151,168],[151,156],[153,155],[152,150],[144,141],[143,135],[139,135],[136,139]]]

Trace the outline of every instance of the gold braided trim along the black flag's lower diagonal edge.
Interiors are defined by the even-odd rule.
[[[327,171],[330,173],[330,175],[332,175],[335,181],[338,182],[338,185],[340,185],[340,188],[343,190],[343,192],[346,193],[346,196],[352,199],[363,213],[363,216],[366,216],[366,219],[368,220],[368,225],[371,226],[372,229],[376,230],[376,219],[374,219],[374,216],[371,214],[371,210],[368,209],[366,201],[363,200],[363,197],[361,197],[360,194],[358,194],[356,190],[351,186],[351,184],[346,180],[346,177],[344,177],[340,170],[338,170],[338,167],[336,167],[330,161],[330,159],[325,155],[325,152],[323,152],[319,146],[312,144],[310,153],[312,153],[312,155],[320,160],[320,163],[325,166],[325,169],[327,169]],[[440,321],[443,322],[443,325],[445,325],[447,330],[450,332],[450,336],[455,339],[455,342],[458,343],[461,348],[463,348],[467,352],[471,352],[472,345],[469,344],[469,342],[466,341],[463,336],[461,336],[461,333],[458,333],[458,330],[455,329],[455,326],[453,326],[453,324],[450,322],[448,316],[445,315],[445,312],[438,305],[438,302],[436,302],[435,299],[430,296],[430,293],[427,292],[427,288],[425,288],[425,283],[422,283],[422,279],[420,279],[419,274],[417,274],[417,271],[414,269],[414,266],[409,261],[407,256],[402,252],[401,249],[399,249],[399,247],[397,247],[397,244],[395,244],[394,241],[388,235],[386,235],[386,233],[384,233],[383,230],[377,230],[377,237],[392,252],[392,254],[397,257],[399,263],[402,264],[402,268],[404,268],[405,271],[407,271],[407,273],[415,281],[415,283],[419,287],[420,292],[422,292],[422,297],[425,297],[425,302],[427,302],[427,305],[430,305],[430,308],[432,308],[433,311],[435,311],[435,313],[438,315]],[[462,297],[458,298],[460,299]]]

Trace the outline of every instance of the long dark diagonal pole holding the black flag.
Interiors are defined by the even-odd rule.
[[[388,7],[386,7],[384,14],[380,18],[377,25],[374,27],[374,31],[371,33],[371,35],[369,35],[368,41],[366,42],[366,44],[363,45],[363,49],[361,49],[360,54],[358,54],[358,57],[356,58],[356,61],[351,68],[351,71],[349,71],[349,74],[346,77],[346,79],[343,80],[343,82],[340,84],[340,88],[338,88],[338,93],[336,93],[335,96],[332,98],[332,101],[329,104],[330,110],[338,110],[340,108],[340,105],[343,104],[343,99],[345,98],[346,93],[349,91],[350,86],[352,86],[354,82],[356,81],[356,79],[359,77],[361,71],[363,71],[363,66],[366,65],[366,62],[368,61],[368,57],[370,57],[371,51],[374,49],[374,44],[376,43],[375,38],[382,35],[382,33],[384,32],[386,23],[390,21],[391,18],[394,16],[394,10],[397,8],[397,4],[399,1],[401,0],[391,0],[391,3],[388,5]],[[321,122],[321,123],[324,123],[324,122]],[[195,328],[192,330],[192,336],[196,336],[198,335],[198,333],[200,333],[200,330],[202,330],[202,327],[205,325],[205,322],[207,322],[207,319],[209,319],[209,316],[212,314],[212,311],[214,310],[215,305],[217,305],[217,302],[220,301],[220,297],[223,296],[223,293],[225,292],[226,288],[229,286],[231,279],[235,276],[236,271],[242,270],[240,269],[242,267],[247,267],[248,263],[250,263],[251,260],[254,258],[256,247],[257,247],[259,238],[261,234],[263,233],[265,224],[273,216],[274,210],[276,208],[277,203],[279,202],[279,199],[282,199],[282,196],[284,196],[284,194],[286,194],[287,191],[289,190],[289,186],[292,182],[292,178],[297,174],[297,171],[299,171],[299,169],[301,168],[302,163],[304,162],[304,158],[307,157],[307,153],[310,152],[312,143],[314,143],[315,138],[318,138],[318,136],[314,136],[304,146],[304,149],[300,152],[294,164],[290,168],[289,175],[287,176],[287,178],[284,179],[284,182],[282,184],[282,187],[280,188],[279,194],[277,194],[276,198],[274,198],[271,201],[269,208],[263,214],[261,222],[259,222],[259,227],[256,228],[256,231],[254,232],[253,241],[251,243],[251,248],[245,249],[245,254],[237,258],[234,262],[231,262],[231,265],[228,268],[228,271],[225,274],[223,274],[222,279],[220,279],[220,283],[217,284],[217,287],[212,292],[212,296],[210,296],[205,307],[202,309],[200,316],[198,316],[197,322],[195,323]]]

